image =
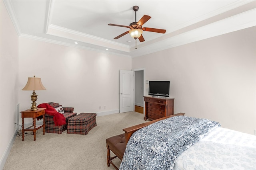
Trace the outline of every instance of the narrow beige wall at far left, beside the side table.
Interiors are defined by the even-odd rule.
[[[0,1],[0,159],[4,166],[16,131],[16,105],[18,104],[18,35],[6,11],[3,1]]]

